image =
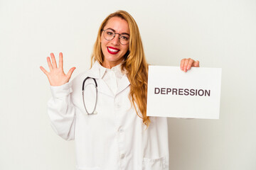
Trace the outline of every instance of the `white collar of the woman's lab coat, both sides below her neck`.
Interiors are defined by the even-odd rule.
[[[102,67],[100,65],[99,62],[95,62],[92,65],[92,68],[87,72],[87,77],[92,77],[97,79],[97,84],[98,84],[98,91],[103,93],[103,94],[107,94],[108,96],[112,96],[114,97],[113,92],[111,91],[111,89],[107,86],[107,84],[105,83],[104,80],[102,80],[102,77],[104,76],[105,72],[106,72],[106,68]],[[129,86],[130,82],[129,79],[127,78],[127,74],[124,74],[124,76],[122,77],[118,89],[117,89],[117,94],[119,94],[121,91],[123,91],[124,89],[127,88],[127,86]],[[116,95],[117,95],[116,94]]]

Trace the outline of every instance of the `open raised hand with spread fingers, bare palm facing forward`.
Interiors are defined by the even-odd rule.
[[[50,62],[50,58],[51,61]],[[72,67],[69,71],[68,74],[65,74],[63,71],[63,53],[60,52],[59,54],[59,64],[57,67],[55,57],[53,53],[50,53],[50,57],[47,57],[47,62],[48,62],[48,67],[50,69],[50,72],[47,72],[46,69],[44,69],[42,66],[40,69],[46,74],[50,85],[51,86],[61,86],[65,83],[68,83],[70,80],[71,75],[73,74],[75,67]]]

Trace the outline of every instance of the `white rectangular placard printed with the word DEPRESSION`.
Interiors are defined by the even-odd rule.
[[[220,68],[149,66],[146,115],[218,119]]]

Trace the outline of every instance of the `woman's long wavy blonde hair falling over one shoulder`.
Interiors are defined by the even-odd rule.
[[[91,65],[97,60],[100,64],[103,63],[104,55],[102,53],[100,38],[102,34],[102,29],[106,26],[107,21],[112,17],[119,17],[127,21],[129,25],[129,50],[124,55],[124,62],[122,63],[122,70],[127,71],[127,77],[130,82],[130,101],[133,103],[137,115],[142,118],[143,123],[146,127],[149,127],[150,119],[146,116],[146,95],[147,95],[147,79],[148,79],[148,64],[146,62],[146,57],[144,55],[144,50],[142,46],[142,39],[139,34],[139,28],[134,18],[127,13],[127,11],[116,11],[111,13],[102,22],[98,33],[97,40],[92,52]],[[137,104],[139,112],[137,111]]]

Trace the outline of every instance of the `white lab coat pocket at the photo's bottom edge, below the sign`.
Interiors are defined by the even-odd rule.
[[[166,157],[161,157],[159,159],[144,158],[142,170],[168,170]]]

